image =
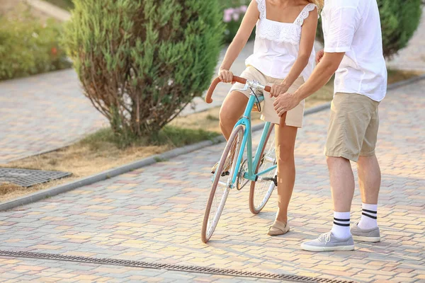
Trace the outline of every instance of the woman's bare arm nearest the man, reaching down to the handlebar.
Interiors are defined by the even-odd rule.
[[[314,47],[314,39],[316,38],[317,29],[317,8],[310,12],[308,18],[305,19],[302,25],[301,40],[300,40],[300,51],[298,52],[297,59],[290,69],[288,76],[280,83],[280,85],[274,85],[271,88],[271,95],[279,96],[282,93],[288,91],[290,86],[300,77],[301,72],[305,69],[312,54]]]

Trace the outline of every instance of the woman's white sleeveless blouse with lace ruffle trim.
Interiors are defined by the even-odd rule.
[[[266,18],[266,0],[256,0],[256,2],[260,18],[256,24],[254,54],[246,59],[245,64],[258,69],[266,76],[285,79],[300,50],[302,24],[317,6],[307,4],[294,23],[280,23]],[[313,50],[307,67],[301,73],[305,81],[314,69],[314,57]]]

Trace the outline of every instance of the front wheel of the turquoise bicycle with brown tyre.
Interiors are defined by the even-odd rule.
[[[229,180],[232,180],[234,173],[239,171],[239,168],[235,168],[235,166],[243,137],[244,127],[242,125],[235,127],[215,170],[210,197],[208,198],[207,207],[205,207],[202,231],[200,233],[200,237],[204,243],[210,240],[225,207],[230,191],[228,186]],[[227,171],[229,171],[229,174],[226,173]]]

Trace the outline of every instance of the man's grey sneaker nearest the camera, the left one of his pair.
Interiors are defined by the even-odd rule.
[[[314,241],[301,244],[303,250],[311,252],[329,252],[333,250],[354,250],[353,237],[341,239],[336,238],[333,233],[324,233]]]

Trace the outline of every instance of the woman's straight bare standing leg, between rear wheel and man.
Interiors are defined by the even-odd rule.
[[[288,205],[295,184],[295,139],[296,127],[275,126],[276,132],[276,157],[278,161],[278,212],[276,220],[288,222]]]

